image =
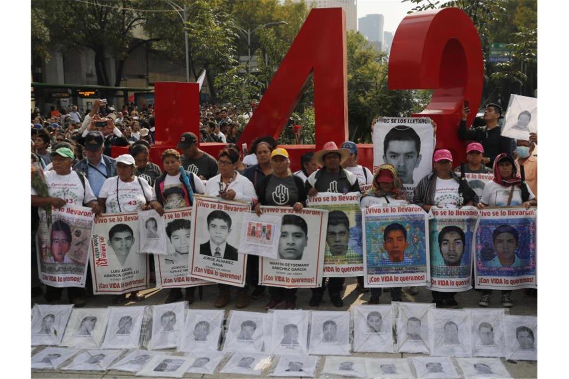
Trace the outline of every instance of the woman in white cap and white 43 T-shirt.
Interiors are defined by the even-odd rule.
[[[105,180],[99,192],[98,202],[103,213],[129,213],[151,208],[160,214],[164,212],[146,179],[134,176],[135,166],[130,154],[117,157],[118,175]],[[144,296],[133,291],[130,298],[142,301]],[[122,299],[122,295],[117,295],[114,302],[121,302]]]

